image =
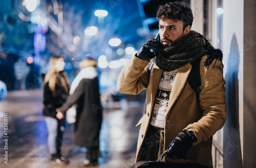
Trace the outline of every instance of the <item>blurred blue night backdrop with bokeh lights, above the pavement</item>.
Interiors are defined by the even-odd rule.
[[[155,38],[158,3],[145,15],[136,0],[8,0],[0,2],[0,80],[10,90],[41,88],[52,55],[65,59],[70,82],[87,54],[98,61],[100,90],[116,80],[133,53]],[[149,10],[149,9],[147,9]]]

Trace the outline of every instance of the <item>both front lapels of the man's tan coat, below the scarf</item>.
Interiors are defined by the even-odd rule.
[[[167,113],[168,111],[170,111],[170,109],[178,99],[179,95],[181,94],[185,86],[185,83],[187,81],[187,78],[189,76],[189,73],[191,71],[191,68],[192,68],[191,64],[188,63],[178,69],[175,80],[174,80],[173,89],[172,89],[172,92],[170,93],[170,99],[167,106]],[[152,80],[152,94],[151,94],[152,102],[155,101],[155,97],[156,97],[156,93],[157,93],[157,89],[159,86],[162,73],[163,73],[163,70],[161,70],[157,65],[154,65],[154,69],[152,72],[152,74],[154,74],[154,79],[151,79]],[[151,109],[153,109],[153,104],[154,103],[151,103]]]

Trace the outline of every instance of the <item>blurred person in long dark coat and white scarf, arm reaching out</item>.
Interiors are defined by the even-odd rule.
[[[76,104],[75,144],[86,147],[86,159],[78,166],[94,166],[100,157],[99,132],[102,122],[99,85],[96,70],[97,62],[91,57],[80,62],[81,71],[72,82],[74,90],[67,101],[57,108],[58,119],[63,119],[67,110]]]

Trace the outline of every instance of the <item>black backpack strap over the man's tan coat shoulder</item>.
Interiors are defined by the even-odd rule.
[[[193,90],[195,90],[196,95],[198,97],[201,92],[201,89],[199,88],[201,86],[201,78],[200,78],[200,62],[201,62],[201,60],[202,60],[202,57],[199,57],[196,60],[190,62],[190,64],[192,65],[192,69],[187,78],[190,87]]]

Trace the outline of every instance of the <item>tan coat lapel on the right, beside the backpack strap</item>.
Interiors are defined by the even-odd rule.
[[[170,109],[172,108],[172,106],[178,99],[179,95],[181,94],[185,86],[185,83],[187,81],[188,75],[191,71],[191,68],[192,68],[191,64],[188,63],[178,69],[175,80],[174,80],[172,92],[170,92],[170,99],[167,106],[167,113],[169,113]]]

